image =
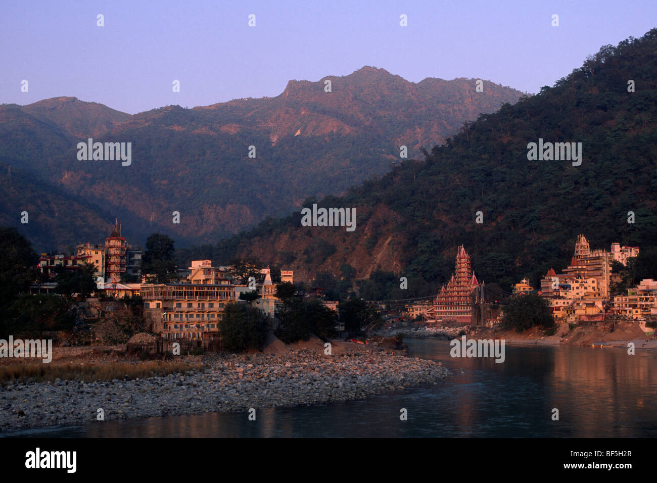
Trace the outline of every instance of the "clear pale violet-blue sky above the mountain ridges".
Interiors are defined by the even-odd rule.
[[[536,93],[657,26],[657,0],[5,1],[0,15],[0,103],[75,96],[134,114],[273,97],[364,65]]]

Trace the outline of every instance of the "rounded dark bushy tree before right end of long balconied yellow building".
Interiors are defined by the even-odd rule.
[[[269,317],[242,304],[227,304],[219,321],[221,347],[235,352],[260,350],[268,332]]]

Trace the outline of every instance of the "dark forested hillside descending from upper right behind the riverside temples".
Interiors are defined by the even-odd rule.
[[[528,143],[539,138],[581,143],[581,165],[528,160]],[[480,116],[424,162],[324,198],[321,206],[356,208],[352,233],[302,227],[295,212],[198,253],[256,256],[306,279],[337,275],[343,264],[357,277],[381,267],[409,277],[409,294],[428,294],[447,281],[464,244],[478,279],[509,288],[565,267],[579,233],[592,248],[657,246],[656,159],[657,29],[602,47],[553,87]]]

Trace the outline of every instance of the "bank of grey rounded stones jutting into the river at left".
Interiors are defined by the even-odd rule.
[[[326,356],[302,349],[286,354],[185,356],[202,371],[108,382],[16,382],[0,388],[3,431],[55,425],[289,407],[367,398],[444,379],[440,363],[382,352]]]

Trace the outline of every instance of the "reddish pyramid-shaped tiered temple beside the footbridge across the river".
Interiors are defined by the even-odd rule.
[[[456,321],[468,324],[472,318],[472,300],[470,295],[479,283],[470,267],[470,255],[463,245],[459,246],[456,256],[455,272],[447,286],[440,288],[434,300],[434,317],[437,320]]]

